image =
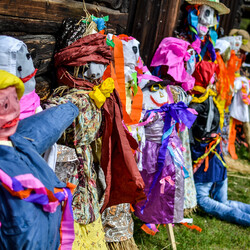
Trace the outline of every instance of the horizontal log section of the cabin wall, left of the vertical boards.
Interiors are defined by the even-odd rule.
[[[97,17],[109,15],[108,31],[114,34],[125,32],[128,1],[106,0],[97,4],[86,3],[89,13]],[[111,9],[112,6],[115,9]],[[56,86],[53,56],[63,19],[80,20],[83,16],[83,2],[77,0],[0,1],[0,34],[13,36],[27,44],[38,69],[36,82],[41,98],[46,98],[50,89]]]

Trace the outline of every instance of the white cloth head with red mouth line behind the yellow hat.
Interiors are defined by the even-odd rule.
[[[37,70],[24,42],[10,36],[0,36],[0,69],[16,75],[23,81],[24,95],[35,90]]]

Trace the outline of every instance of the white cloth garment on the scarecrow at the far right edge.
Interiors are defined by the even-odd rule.
[[[248,79],[244,76],[237,77],[234,81],[234,90],[236,93],[230,105],[230,116],[241,122],[249,122],[248,105],[242,100],[242,84],[246,87],[247,95],[249,94]]]

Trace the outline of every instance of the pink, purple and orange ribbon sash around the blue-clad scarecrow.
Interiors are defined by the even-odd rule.
[[[15,197],[27,202],[42,205],[43,211],[54,213],[62,201],[63,214],[60,227],[61,249],[71,249],[74,241],[74,219],[71,207],[72,194],[75,185],[67,183],[66,188],[55,188],[55,192],[47,189],[43,183],[32,174],[10,177],[0,169],[0,183]]]

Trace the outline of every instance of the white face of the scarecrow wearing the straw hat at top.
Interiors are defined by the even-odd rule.
[[[200,14],[198,19],[197,30],[199,36],[205,36],[208,33],[209,27],[216,24],[215,11],[207,5],[201,5],[199,8]]]

